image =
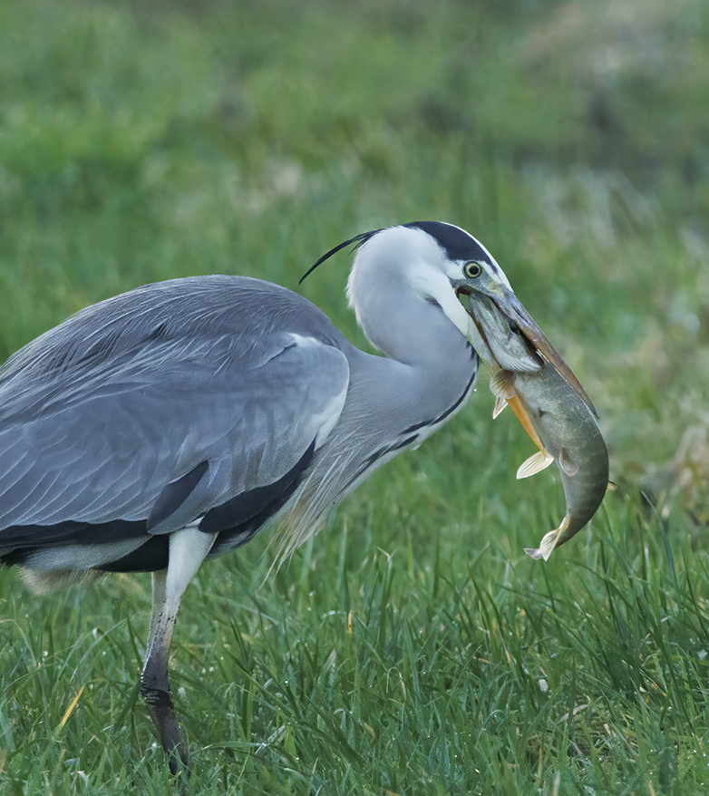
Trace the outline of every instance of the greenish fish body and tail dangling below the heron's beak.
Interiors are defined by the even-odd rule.
[[[489,365],[490,366],[490,365]],[[568,383],[548,362],[529,373],[491,368],[490,389],[496,397],[493,417],[505,405],[539,447],[517,471],[517,478],[556,461],[566,499],[566,514],[539,548],[525,548],[531,558],[549,560],[552,550],[575,536],[596,513],[608,488],[608,451],[598,428],[595,408],[586,393]]]

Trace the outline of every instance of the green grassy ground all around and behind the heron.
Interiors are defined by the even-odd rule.
[[[172,683],[194,794],[709,790],[704,0],[0,4],[0,354],[145,282],[296,288],[382,223],[468,228],[602,415],[563,512],[471,407],[264,578],[199,572]],[[364,345],[348,258],[302,287]],[[641,494],[644,497],[641,497]],[[174,791],[137,700],[146,576],[0,573],[0,792]]]

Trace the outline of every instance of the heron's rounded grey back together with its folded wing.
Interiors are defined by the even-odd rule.
[[[151,531],[170,532],[322,444],[345,402],[344,338],[285,288],[207,288],[174,280],[109,299],[5,364],[0,549],[22,527],[146,520],[147,532],[151,511]],[[170,493],[180,479],[191,489]]]

